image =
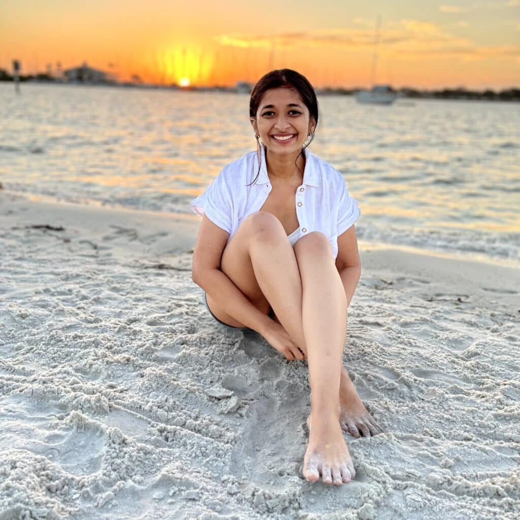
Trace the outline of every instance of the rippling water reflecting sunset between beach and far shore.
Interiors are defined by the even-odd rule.
[[[520,104],[318,102],[309,150],[344,175],[363,247],[520,266]],[[0,118],[4,188],[83,204],[192,215],[256,147],[246,94],[0,83]]]

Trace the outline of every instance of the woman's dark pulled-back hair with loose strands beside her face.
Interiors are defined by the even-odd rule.
[[[300,74],[299,72],[296,72],[292,69],[277,69],[277,70],[271,70],[271,72],[268,72],[267,74],[263,75],[256,85],[253,87],[253,90],[251,90],[251,98],[249,100],[249,116],[250,118],[256,119],[256,112],[258,111],[258,106],[260,105],[260,102],[262,101],[262,97],[264,96],[266,90],[269,90],[271,88],[293,88],[296,90],[298,94],[300,94],[300,97],[302,98],[302,101],[305,103],[305,106],[309,109],[309,115],[310,118],[313,118],[315,121],[315,125],[318,124],[318,99],[316,98],[316,93],[314,92],[313,86],[309,83],[307,78]],[[316,126],[315,126],[316,131]],[[314,139],[314,133],[311,137],[310,141],[302,148],[303,150],[307,148],[307,146],[310,145],[310,143]],[[260,168],[261,168],[261,161],[262,161],[262,149],[260,148],[260,143],[258,139],[257,142],[257,150],[256,154],[258,157],[258,172],[256,174],[256,177],[252,181],[251,184],[254,184],[256,182],[256,179],[258,179],[258,175],[260,174]],[[298,154],[298,157],[300,157],[300,154]],[[296,157],[296,167],[298,168],[297,161],[298,157]],[[300,170],[300,168],[298,168]],[[301,170],[300,170],[301,171]],[[303,172],[302,172],[303,175]],[[249,184],[248,186],[251,186]]]

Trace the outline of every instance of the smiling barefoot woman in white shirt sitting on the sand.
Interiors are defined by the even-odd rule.
[[[192,279],[215,319],[258,332],[289,360],[308,359],[303,474],[341,485],[355,476],[342,428],[356,437],[381,432],[342,365],[361,271],[359,209],[340,172],[307,149],[318,102],[303,75],[263,76],[251,92],[250,118],[257,152],[225,166],[191,203],[203,216]]]

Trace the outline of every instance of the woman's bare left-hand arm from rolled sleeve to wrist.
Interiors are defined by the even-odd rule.
[[[220,270],[228,237],[227,231],[220,229],[207,216],[203,217],[193,250],[191,279],[229,316],[263,335],[272,322],[271,318],[259,311]]]

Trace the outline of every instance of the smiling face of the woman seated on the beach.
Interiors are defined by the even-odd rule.
[[[314,119],[300,94],[292,88],[266,90],[251,124],[268,150],[276,153],[300,152],[309,132],[314,132]],[[277,140],[275,136],[284,137]],[[292,136],[289,137],[288,136]]]

